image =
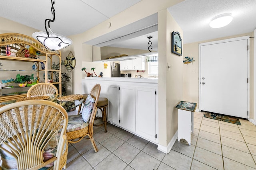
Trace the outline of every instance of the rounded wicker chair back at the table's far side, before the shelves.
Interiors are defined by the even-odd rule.
[[[58,97],[58,89],[56,86],[50,83],[38,83],[28,89],[27,97],[43,96],[49,94],[53,95],[53,97],[50,96],[50,101],[53,101]]]

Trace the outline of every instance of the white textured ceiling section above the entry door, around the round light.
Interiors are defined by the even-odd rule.
[[[185,0],[168,8],[183,30],[183,43],[252,32],[256,28],[256,0]],[[226,27],[211,28],[215,16],[231,13]]]

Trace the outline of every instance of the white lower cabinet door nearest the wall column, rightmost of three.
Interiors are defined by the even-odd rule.
[[[156,141],[156,95],[155,88],[136,87],[136,133]]]

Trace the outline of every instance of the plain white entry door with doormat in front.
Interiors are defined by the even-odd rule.
[[[248,39],[201,45],[201,110],[248,118]]]

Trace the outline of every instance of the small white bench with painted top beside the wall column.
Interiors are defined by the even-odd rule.
[[[191,145],[191,132],[194,133],[194,111],[196,103],[180,101],[176,109],[178,109],[178,142],[185,139],[188,145]]]

